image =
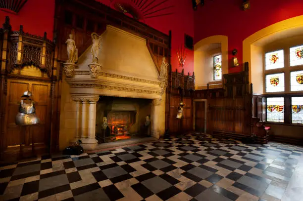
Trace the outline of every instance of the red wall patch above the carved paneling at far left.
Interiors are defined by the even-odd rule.
[[[47,32],[48,39],[52,40],[54,0],[28,0],[18,14],[0,10],[1,24],[5,16],[9,16],[12,30],[19,30],[20,25],[23,25],[24,32],[38,36]]]

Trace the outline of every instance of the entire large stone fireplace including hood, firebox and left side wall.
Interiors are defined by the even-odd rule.
[[[68,133],[63,136],[70,142],[81,139],[85,150],[94,150],[104,116],[111,134],[128,136],[142,134],[150,115],[151,136],[158,139],[165,129],[167,79],[160,77],[146,39],[110,25],[101,37],[97,69],[89,47],[74,69],[64,70],[60,137]]]

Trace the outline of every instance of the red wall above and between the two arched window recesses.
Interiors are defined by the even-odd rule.
[[[227,36],[229,59],[236,48],[241,63],[243,40],[271,24],[303,15],[303,0],[251,0],[246,11],[241,4],[242,0],[205,0],[194,13],[195,43],[209,36]],[[229,68],[229,73],[239,71],[241,67]]]

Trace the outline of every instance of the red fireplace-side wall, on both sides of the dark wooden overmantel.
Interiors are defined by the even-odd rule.
[[[105,5],[110,4],[110,0],[98,0]],[[129,0],[131,1],[131,0]],[[158,0],[159,2],[161,0]],[[154,3],[155,5],[156,3]],[[172,31],[172,70],[182,71],[178,65],[177,49],[184,46],[184,34],[194,37],[194,10],[192,9],[191,0],[178,0],[174,3],[173,0],[168,0],[163,4],[155,7],[153,10],[158,10],[170,5],[169,8],[160,13],[170,13],[171,15],[159,16],[145,19],[145,23],[149,26],[168,34]],[[13,30],[19,30],[20,24],[23,25],[24,32],[34,35],[43,36],[44,32],[48,33],[48,39],[52,40],[53,36],[53,17],[54,17],[54,0],[28,0],[18,14],[11,14],[0,11],[0,23],[4,22],[5,16],[10,17],[10,24]],[[192,73],[194,70],[194,53],[186,49],[187,57],[185,61],[184,71]]]

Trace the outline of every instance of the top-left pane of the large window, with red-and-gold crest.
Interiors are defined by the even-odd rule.
[[[284,68],[284,50],[267,52],[265,54],[265,70]]]

